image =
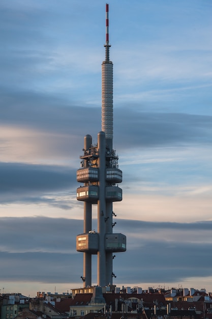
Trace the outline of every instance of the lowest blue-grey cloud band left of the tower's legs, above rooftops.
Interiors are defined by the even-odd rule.
[[[79,282],[76,271],[79,257],[61,253],[7,253],[0,252],[1,280],[45,283]],[[14,265],[16,265],[14,267]],[[78,275],[76,277],[76,274]]]

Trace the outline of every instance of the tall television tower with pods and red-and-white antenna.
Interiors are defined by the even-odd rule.
[[[76,237],[76,249],[83,252],[83,286],[92,285],[92,255],[97,254],[97,284],[111,285],[113,253],[126,251],[126,236],[113,233],[113,202],[122,200],[122,171],[113,149],[113,64],[109,59],[109,19],[106,4],[105,61],[102,62],[102,131],[97,145],[92,136],[84,137],[81,168],[77,181],[84,183],[77,188],[77,200],[84,202],[84,229]],[[92,205],[98,205],[98,229],[92,231]]]

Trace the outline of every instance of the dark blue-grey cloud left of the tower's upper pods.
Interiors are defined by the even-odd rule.
[[[70,209],[76,171],[64,166],[0,163],[1,203],[46,203]],[[69,195],[69,201],[67,201]]]

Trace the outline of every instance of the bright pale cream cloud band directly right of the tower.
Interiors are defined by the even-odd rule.
[[[151,188],[146,193],[140,191],[137,194],[134,189],[127,194],[123,190],[123,201],[114,204],[113,210],[118,217],[128,219],[131,216],[133,220],[145,221],[194,222],[203,216],[203,219],[211,220],[212,200],[209,193],[179,196],[174,193],[172,185],[170,185],[171,190],[167,193],[163,191],[163,194],[160,194],[160,187],[158,192]]]

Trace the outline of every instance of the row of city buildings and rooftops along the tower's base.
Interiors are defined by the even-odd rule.
[[[72,289],[72,293],[38,291],[35,298],[20,293],[0,295],[1,319],[143,318],[211,319],[212,295],[204,289],[178,288],[165,291],[149,287],[107,286]]]

